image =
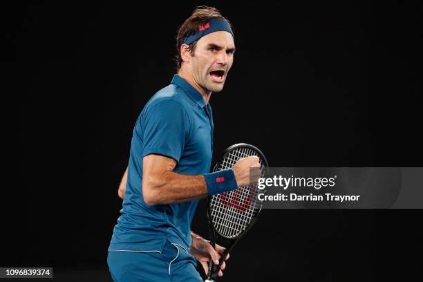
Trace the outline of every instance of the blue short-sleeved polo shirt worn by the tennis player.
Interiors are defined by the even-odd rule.
[[[142,197],[142,158],[151,153],[176,160],[177,173],[208,173],[213,151],[212,108],[185,79],[153,95],[133,129],[126,193],[109,251],[162,251],[164,243],[191,245],[191,220],[198,200],[147,205]],[[184,189],[181,187],[181,189]]]

